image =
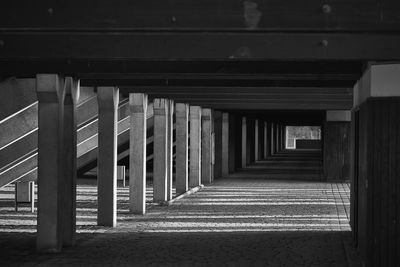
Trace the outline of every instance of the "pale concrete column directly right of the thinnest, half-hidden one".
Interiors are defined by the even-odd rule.
[[[188,191],[189,175],[189,105],[175,104],[176,118],[176,193]]]

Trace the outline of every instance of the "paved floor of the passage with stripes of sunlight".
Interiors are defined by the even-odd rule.
[[[265,180],[242,171],[169,206],[149,203],[144,216],[128,213],[127,194],[119,188],[118,226],[98,227],[96,186],[81,181],[77,246],[35,254],[36,214],[16,213],[10,193],[0,202],[0,265],[358,266],[347,183]]]

